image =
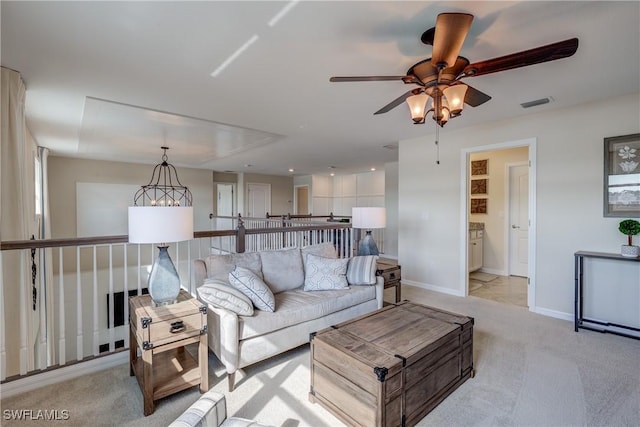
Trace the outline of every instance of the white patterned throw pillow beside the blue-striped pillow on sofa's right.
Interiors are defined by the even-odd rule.
[[[349,258],[324,258],[307,254],[305,260],[305,291],[347,289],[347,264]]]

